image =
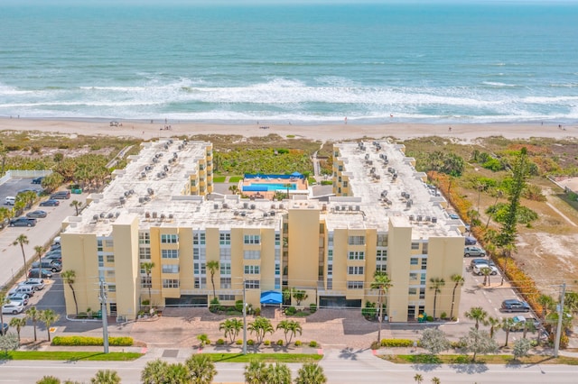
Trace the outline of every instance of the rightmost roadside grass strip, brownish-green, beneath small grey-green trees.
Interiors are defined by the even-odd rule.
[[[428,354],[396,354],[379,355],[383,360],[395,362],[397,364],[471,364],[471,355],[463,354],[441,354],[430,356]],[[543,355],[532,355],[515,360],[508,354],[491,354],[476,356],[474,364],[564,364],[578,365],[578,358],[559,356],[557,358]]]

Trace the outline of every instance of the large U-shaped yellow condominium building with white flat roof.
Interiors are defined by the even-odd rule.
[[[267,292],[296,288],[307,294],[302,306],[359,308],[378,301],[371,283],[382,270],[392,281],[389,321],[430,314],[434,297],[437,314],[449,314],[463,224],[449,218],[404,149],[335,145],[334,197],[322,202],[292,188],[291,198],[269,201],[213,193],[209,142],[144,143],[81,215],[62,224],[63,267],[76,273],[76,299],[65,287],[67,312],[98,307],[101,280],[108,310],[127,319],[144,300],[207,306],[216,295],[232,305],[243,288],[254,307]],[[154,263],[150,273],[144,263]],[[437,291],[430,279],[446,284]],[[458,290],[456,308],[459,300]]]

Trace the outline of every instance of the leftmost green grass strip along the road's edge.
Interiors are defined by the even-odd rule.
[[[11,351],[1,352],[2,360],[65,360],[65,361],[133,361],[143,356],[137,352],[71,352],[71,351]]]

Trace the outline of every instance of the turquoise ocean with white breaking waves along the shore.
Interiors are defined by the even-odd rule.
[[[577,21],[553,1],[0,4],[0,116],[575,123]]]

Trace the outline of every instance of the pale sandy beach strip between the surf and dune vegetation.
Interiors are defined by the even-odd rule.
[[[348,141],[367,138],[394,137],[406,140],[424,136],[442,136],[461,142],[471,142],[479,137],[503,136],[508,139],[547,137],[575,139],[578,126],[559,126],[554,123],[483,123],[443,124],[385,123],[385,124],[219,124],[195,122],[119,121],[111,126],[109,121],[40,120],[23,118],[0,118],[0,131],[40,131],[44,133],[66,133],[85,135],[132,136],[143,140],[159,137],[197,134],[238,134],[246,137],[266,136],[272,133],[282,137],[294,136],[314,141]]]

